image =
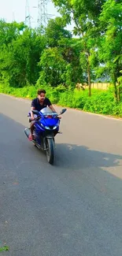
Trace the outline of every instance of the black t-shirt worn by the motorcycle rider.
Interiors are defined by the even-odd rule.
[[[49,98],[45,98],[43,105],[40,104],[39,98],[34,98],[31,102],[31,106],[35,107],[36,110],[40,111],[41,109],[45,108],[46,106],[52,105]]]

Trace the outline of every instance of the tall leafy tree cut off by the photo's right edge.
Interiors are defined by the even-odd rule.
[[[115,0],[105,2],[100,16],[101,43],[99,58],[109,70],[114,86],[115,98],[118,100],[117,79],[122,67],[122,5]]]

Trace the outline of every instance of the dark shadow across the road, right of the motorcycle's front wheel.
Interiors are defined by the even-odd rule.
[[[57,165],[68,169],[109,168],[122,166],[122,155],[91,150],[85,146],[57,144]],[[121,161],[121,164],[120,164]],[[122,169],[121,169],[122,171]]]

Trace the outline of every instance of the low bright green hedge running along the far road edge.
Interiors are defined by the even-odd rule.
[[[42,86],[43,87],[43,86]],[[52,88],[44,86],[46,95],[53,104],[83,109],[91,113],[102,113],[122,117],[122,102],[116,104],[112,91],[101,91],[92,89],[92,96],[88,97],[88,91],[68,91],[63,86]],[[14,88],[0,85],[0,92],[22,98],[35,98],[37,86]]]

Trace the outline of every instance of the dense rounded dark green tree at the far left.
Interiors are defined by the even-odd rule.
[[[0,51],[1,80],[7,80],[13,87],[35,84],[39,78],[38,62],[45,45],[44,36],[37,35],[35,30],[26,28],[17,37],[13,34],[13,40],[3,44]]]

